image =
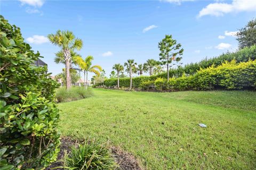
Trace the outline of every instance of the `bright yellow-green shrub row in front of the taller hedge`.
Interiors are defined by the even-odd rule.
[[[122,82],[121,86],[129,87],[127,78],[120,82]],[[194,75],[187,76],[183,74],[181,77],[173,77],[169,81],[164,78],[140,77],[140,79],[134,78],[134,82],[135,87],[143,90],[154,87],[158,91],[211,90],[217,87],[223,89],[242,89],[244,87],[255,89],[256,60],[241,63],[237,63],[235,60],[226,61],[217,67],[210,66],[206,69],[200,69]],[[106,81],[107,83],[113,86],[115,80],[109,79],[109,81]]]

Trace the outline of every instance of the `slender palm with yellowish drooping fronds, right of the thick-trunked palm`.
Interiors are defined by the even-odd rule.
[[[102,71],[101,66],[92,65],[93,56],[89,55],[84,59],[84,62],[80,65],[81,69],[84,71],[84,87],[87,90],[87,80],[88,80],[88,72],[95,73],[96,75],[100,75]],[[86,79],[85,79],[86,76]]]

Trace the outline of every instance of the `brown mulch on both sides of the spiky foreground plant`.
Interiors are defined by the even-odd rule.
[[[70,152],[71,146],[74,146],[77,143],[76,140],[73,140],[71,138],[65,137],[61,138],[61,145],[60,145],[60,152],[58,155],[58,160],[63,159],[65,152]],[[138,161],[135,159],[135,157],[132,154],[129,154],[120,148],[117,147],[111,147],[110,148],[114,159],[116,160],[116,163],[119,165],[119,169],[122,170],[142,170],[142,168],[139,166]],[[62,162],[55,162],[49,167],[46,168],[46,170],[50,170],[52,168],[57,170],[63,170],[64,168],[55,168],[55,167],[61,167],[63,166]]]

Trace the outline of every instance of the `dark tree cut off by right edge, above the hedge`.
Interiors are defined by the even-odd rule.
[[[256,45],[256,18],[252,19],[237,33],[239,48]]]

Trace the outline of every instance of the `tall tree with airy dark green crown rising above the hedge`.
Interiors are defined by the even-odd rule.
[[[160,50],[159,59],[162,61],[163,65],[167,67],[167,80],[169,80],[169,67],[172,61],[179,62],[182,57],[178,55],[183,54],[183,48],[181,44],[177,44],[177,41],[172,39],[172,35],[165,35],[165,38],[158,43],[158,48]]]

